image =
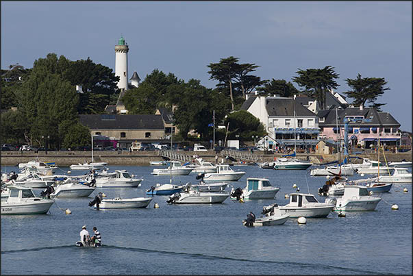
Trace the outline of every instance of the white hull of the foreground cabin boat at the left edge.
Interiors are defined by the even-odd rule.
[[[19,215],[19,214],[46,214],[53,201],[47,200],[39,203],[1,203],[1,215]]]

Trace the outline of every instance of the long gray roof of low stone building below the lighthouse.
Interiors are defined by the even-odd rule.
[[[82,125],[90,129],[164,129],[161,115],[79,115]]]

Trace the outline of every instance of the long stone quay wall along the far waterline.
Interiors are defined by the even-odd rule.
[[[221,162],[221,158],[224,159],[226,164],[236,164],[239,161],[249,161],[239,160],[236,158],[236,162],[228,160],[225,155],[221,153],[215,153],[214,151],[177,151],[177,153],[188,155],[192,157],[198,155],[204,161],[215,163],[215,156],[218,156],[218,162]],[[258,162],[271,162],[274,158],[280,158],[284,153],[274,153],[274,154],[263,154],[262,151],[255,151],[253,153],[257,158]],[[363,153],[351,156],[358,156],[359,158],[369,158],[371,160],[377,160],[377,153]],[[34,153],[33,151],[1,151],[1,165],[2,166],[15,166],[18,163],[25,163],[32,160],[38,160],[42,162],[55,162],[58,166],[69,166],[71,164],[78,164],[84,162],[92,161],[92,154],[90,151],[40,151],[39,153]],[[319,155],[314,153],[297,153],[297,159],[300,160],[310,160],[314,164],[324,164],[327,162],[333,162],[337,160],[338,155]],[[401,161],[405,159],[406,161],[412,161],[412,151],[406,153],[386,153],[387,162]],[[110,165],[149,165],[151,161],[163,160],[162,156],[159,155],[158,151],[95,151],[93,154],[93,160],[95,162],[107,162]],[[384,162],[383,155],[380,156],[380,161]],[[360,163],[361,159],[352,159],[354,163]]]

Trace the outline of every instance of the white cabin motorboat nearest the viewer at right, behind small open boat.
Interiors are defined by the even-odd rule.
[[[328,198],[325,202],[318,202],[311,194],[293,192],[290,194],[290,203],[280,206],[283,214],[289,214],[290,218],[325,218],[336,206],[336,199]]]

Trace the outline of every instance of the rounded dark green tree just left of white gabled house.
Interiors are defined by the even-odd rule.
[[[253,114],[246,110],[239,110],[232,112],[225,118],[225,125],[228,128],[228,138],[237,138],[239,135],[240,140],[251,140],[253,135],[264,136],[266,131],[264,125],[260,123],[258,118],[255,118]]]

